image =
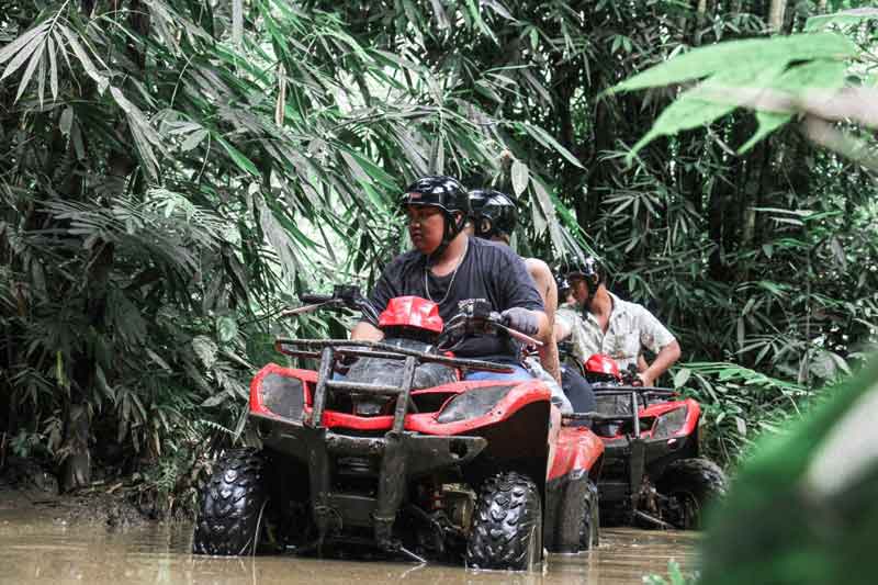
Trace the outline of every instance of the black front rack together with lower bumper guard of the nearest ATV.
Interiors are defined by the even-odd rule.
[[[511,372],[513,369],[487,361],[399,348],[380,341],[278,339],[275,348],[288,356],[320,359],[311,418],[304,420],[304,427],[299,427],[296,431],[291,429],[291,435],[296,437],[294,442],[306,448],[303,454],[311,468],[312,508],[319,533],[317,547],[319,548],[327,535],[340,532],[341,525],[336,526],[336,520],[347,518],[354,526],[371,525],[375,542],[381,549],[417,558],[393,537],[393,525],[404,500],[408,474],[465,463],[485,448],[487,440],[483,437],[431,437],[404,432],[415,368],[418,363],[432,362],[503,373]],[[399,385],[333,380],[336,361],[344,357],[404,360]],[[330,391],[396,396],[391,430],[383,437],[356,437],[326,428],[323,425],[323,414],[327,393]],[[380,459],[374,496],[334,491],[330,482],[330,459],[339,454]]]

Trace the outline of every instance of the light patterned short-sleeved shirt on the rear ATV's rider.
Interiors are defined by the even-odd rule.
[[[658,353],[675,340],[643,305],[622,301],[612,293],[609,295],[612,311],[606,334],[590,312],[579,311],[576,305],[564,304],[555,313],[555,320],[571,330],[573,355],[581,363],[594,353],[606,353],[624,370],[630,363],[637,365],[642,348]]]

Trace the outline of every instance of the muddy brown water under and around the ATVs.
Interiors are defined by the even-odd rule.
[[[189,552],[191,538],[184,525],[109,529],[67,522],[52,510],[0,505],[0,584],[610,585],[641,583],[650,573],[666,575],[672,559],[691,567],[698,536],[604,529],[597,550],[549,555],[547,567],[532,573],[294,556],[203,558]]]

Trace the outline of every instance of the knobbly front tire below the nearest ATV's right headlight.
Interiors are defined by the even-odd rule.
[[[537,485],[503,472],[482,485],[466,544],[473,569],[528,571],[542,560],[542,502]]]

